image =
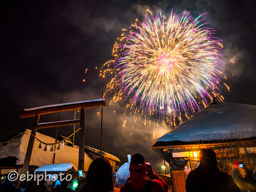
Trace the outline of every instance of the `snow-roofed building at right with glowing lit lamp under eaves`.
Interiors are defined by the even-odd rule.
[[[173,169],[182,161],[195,168],[201,148],[215,150],[219,161],[243,160],[247,166],[256,166],[256,106],[228,102],[209,105],[152,146]]]

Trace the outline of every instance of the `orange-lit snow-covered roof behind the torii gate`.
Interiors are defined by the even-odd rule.
[[[30,130],[26,129],[25,132],[20,132],[15,137],[8,139],[6,145],[0,146],[0,159],[6,157],[16,157],[16,165],[23,165],[25,155],[27,152],[27,145],[30,137]],[[41,134],[40,132],[36,133],[36,137],[46,143],[54,143],[55,139],[49,137],[47,135]],[[31,155],[30,166],[43,166],[47,164],[53,163],[53,155],[54,152],[45,152],[42,148],[38,148],[40,142],[35,139],[34,147]],[[60,150],[56,150],[55,161],[54,163],[73,163],[76,167],[78,167],[78,146],[64,146],[62,149],[62,145],[60,146]],[[89,157],[89,155],[85,152],[85,163],[84,169],[88,170],[93,159]]]

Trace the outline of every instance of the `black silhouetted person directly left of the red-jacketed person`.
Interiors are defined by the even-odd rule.
[[[81,192],[112,192],[114,183],[112,178],[112,167],[108,159],[95,159],[89,166],[86,184]]]

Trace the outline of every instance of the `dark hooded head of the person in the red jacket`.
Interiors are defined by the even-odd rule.
[[[146,179],[147,167],[141,154],[136,153],[132,156],[129,171],[131,179]]]

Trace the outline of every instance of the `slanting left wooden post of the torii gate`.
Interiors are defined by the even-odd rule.
[[[34,136],[36,135],[36,128],[35,128],[35,126],[38,124],[39,118],[40,118],[40,115],[39,114],[35,114],[34,123],[33,123],[33,127],[32,127],[32,130],[31,130],[31,133]],[[26,152],[26,156],[25,156],[24,163],[23,163],[23,166],[22,166],[21,174],[26,174],[26,172],[28,170],[28,167],[29,167],[29,163],[30,163],[30,159],[31,159],[31,154],[32,154],[33,146],[34,146],[34,137],[32,136],[32,134],[30,134],[30,138],[29,138],[29,141],[28,141],[27,152]]]

